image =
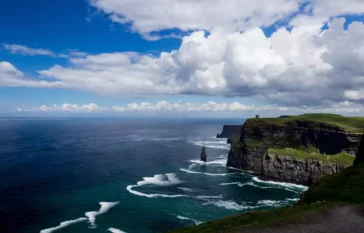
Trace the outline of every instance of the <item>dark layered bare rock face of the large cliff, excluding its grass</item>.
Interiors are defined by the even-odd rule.
[[[279,125],[263,119],[248,119],[242,127],[239,143],[232,144],[227,166],[255,172],[270,180],[309,185],[345,167],[313,159],[268,156],[268,148],[315,147],[322,154],[346,152],[355,156],[360,139],[361,134],[324,123],[294,121]]]

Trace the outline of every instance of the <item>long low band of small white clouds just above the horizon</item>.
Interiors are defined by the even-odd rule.
[[[102,107],[97,104],[90,103],[85,105],[77,104],[62,104],[62,105],[41,105],[31,108],[17,108],[19,113],[26,112],[68,112],[68,113],[115,113],[124,114],[132,112],[149,112],[159,114],[176,114],[176,113],[190,113],[197,114],[199,112],[211,112],[216,114],[231,114],[246,112],[249,115],[253,113],[275,113],[279,114],[302,114],[309,112],[331,112],[339,114],[357,114],[363,113],[364,107],[352,102],[341,102],[333,104],[325,108],[317,107],[282,107],[278,105],[265,105],[265,106],[248,106],[239,102],[233,103],[216,103],[208,101],[204,103],[190,103],[190,102],[167,102],[159,101],[157,103],[130,103],[125,106],[115,105],[112,107]]]

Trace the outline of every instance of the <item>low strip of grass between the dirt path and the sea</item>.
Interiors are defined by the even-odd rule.
[[[245,228],[258,228],[270,225],[284,224],[302,219],[328,210],[338,203],[321,202],[311,205],[292,205],[275,210],[252,211],[199,226],[184,228],[173,233],[236,233]]]

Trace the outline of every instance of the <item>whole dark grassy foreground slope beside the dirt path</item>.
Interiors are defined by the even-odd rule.
[[[304,193],[301,200],[277,210],[247,212],[193,226],[174,233],[236,233],[242,229],[284,224],[317,214],[334,205],[364,203],[364,163],[324,177]]]

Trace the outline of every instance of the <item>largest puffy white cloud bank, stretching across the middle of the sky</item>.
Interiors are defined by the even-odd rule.
[[[298,16],[300,17],[300,16]],[[111,96],[214,95],[257,97],[282,105],[364,101],[364,24],[344,19],[329,29],[310,21],[270,37],[262,29],[185,36],[178,50],[71,58],[39,74],[66,88]]]

